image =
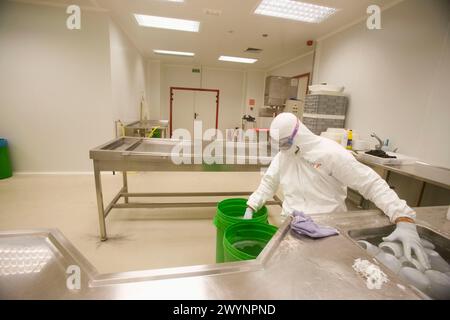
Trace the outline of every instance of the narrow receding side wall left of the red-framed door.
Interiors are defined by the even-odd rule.
[[[142,97],[147,99],[145,60],[113,21],[109,23],[109,39],[113,116],[124,122],[135,121],[139,119]],[[146,112],[143,110],[143,114]]]

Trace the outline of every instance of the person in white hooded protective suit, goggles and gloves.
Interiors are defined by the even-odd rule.
[[[375,171],[357,161],[338,143],[313,134],[292,113],[281,113],[270,126],[270,137],[278,143],[258,189],[249,197],[244,219],[253,216],[271,199],[281,185],[282,215],[294,210],[306,214],[347,211],[347,187],[371,200],[396,223],[395,231],[384,241],[400,241],[411,260],[414,252],[425,269],[430,268],[416,230],[415,212]]]

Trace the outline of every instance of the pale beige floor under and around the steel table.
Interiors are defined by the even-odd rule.
[[[122,177],[105,174],[105,202]],[[253,191],[259,173],[130,173],[131,192]],[[181,199],[184,200],[184,199]],[[269,208],[276,223],[278,207]],[[115,209],[99,241],[93,175],[16,175],[0,180],[0,230],[57,228],[101,273],[215,262],[215,208]],[[186,219],[186,216],[196,219]]]

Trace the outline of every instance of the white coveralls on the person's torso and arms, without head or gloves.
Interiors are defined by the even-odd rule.
[[[284,194],[283,215],[294,210],[306,214],[347,211],[345,199],[350,187],[375,203],[391,222],[399,217],[415,219],[415,212],[375,171],[335,141],[313,134],[302,123],[293,147],[273,158],[247,205],[257,211],[280,185]]]

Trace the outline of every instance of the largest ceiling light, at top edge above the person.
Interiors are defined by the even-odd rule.
[[[255,13],[296,21],[320,23],[337,12],[329,8],[293,0],[262,0]]]

